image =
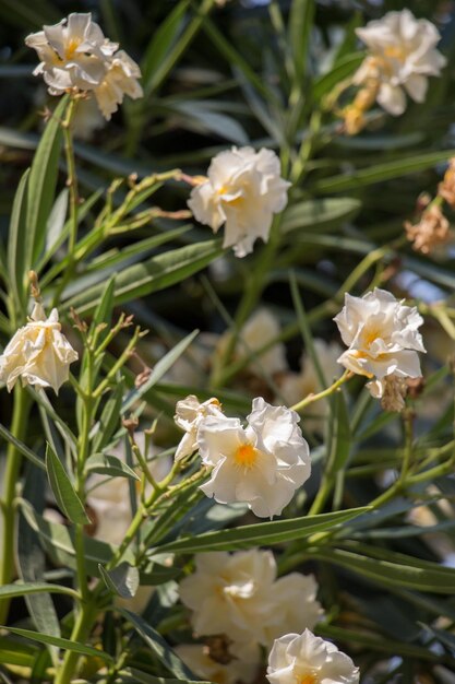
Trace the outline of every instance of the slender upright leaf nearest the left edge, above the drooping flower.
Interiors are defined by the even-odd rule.
[[[24,173],[14,196],[8,238],[8,273],[17,307],[25,309],[25,248],[27,245],[27,191],[29,168]]]

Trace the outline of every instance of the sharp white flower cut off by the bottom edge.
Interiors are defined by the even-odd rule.
[[[275,641],[267,680],[271,684],[357,684],[359,669],[334,644],[306,629]]]

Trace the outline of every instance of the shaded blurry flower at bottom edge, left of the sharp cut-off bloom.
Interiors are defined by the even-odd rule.
[[[215,684],[236,684],[237,682],[249,684],[258,670],[256,661],[240,660],[234,652],[230,662],[218,662],[211,658],[206,646],[182,644],[177,646],[175,651],[194,674]]]

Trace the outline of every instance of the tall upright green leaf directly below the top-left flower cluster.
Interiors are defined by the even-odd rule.
[[[46,125],[28,179],[27,192],[27,236],[25,268],[28,269],[39,258],[46,239],[46,228],[53,204],[62,141],[61,120],[68,104],[62,97]]]

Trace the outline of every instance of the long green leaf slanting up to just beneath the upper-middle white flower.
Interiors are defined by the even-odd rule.
[[[223,255],[219,245],[216,239],[188,245],[124,269],[116,279],[115,304],[143,297],[188,279]],[[88,287],[67,300],[65,306],[74,307],[81,316],[91,314],[104,287],[104,283]]]

